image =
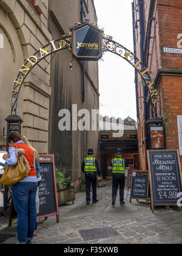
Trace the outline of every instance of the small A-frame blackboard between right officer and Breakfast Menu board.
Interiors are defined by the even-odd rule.
[[[133,171],[130,191],[130,203],[132,199],[144,199],[149,201],[149,172]]]

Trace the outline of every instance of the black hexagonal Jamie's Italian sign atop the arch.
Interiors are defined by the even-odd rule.
[[[102,31],[89,23],[73,29],[72,54],[79,60],[99,60],[103,55]]]

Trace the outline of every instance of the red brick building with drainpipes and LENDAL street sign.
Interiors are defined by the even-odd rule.
[[[182,115],[181,9],[180,0],[133,1],[135,54],[149,68],[149,76],[158,93],[153,108],[149,92],[136,75],[140,169],[147,169],[146,150],[151,148],[147,123],[150,120],[164,126],[166,149],[180,148],[177,118]],[[182,163],[182,154],[180,160]]]

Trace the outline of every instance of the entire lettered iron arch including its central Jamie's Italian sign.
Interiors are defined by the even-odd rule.
[[[91,43],[89,40],[92,40]],[[125,48],[122,44],[113,41],[111,36],[105,35],[95,23],[78,23],[71,28],[68,34],[64,34],[58,40],[50,41],[49,44],[39,48],[35,54],[31,55],[25,61],[21,69],[19,69],[12,89],[11,115],[6,118],[8,123],[7,135],[13,130],[21,132],[22,120],[18,116],[18,98],[24,80],[41,60],[64,49],[72,51],[73,57],[78,60],[97,61],[101,59],[103,52],[111,52],[129,62],[140,74],[144,84],[146,84],[149,92],[148,98],[152,101],[153,112],[157,113],[156,102],[158,92],[155,89],[153,79],[149,76],[149,69],[143,65],[141,60],[139,60],[132,51],[129,51],[129,49]]]

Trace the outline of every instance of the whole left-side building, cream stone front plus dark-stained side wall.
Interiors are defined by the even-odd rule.
[[[83,1],[84,18],[97,22],[92,0]],[[13,81],[31,55],[52,40],[70,32],[81,22],[79,0],[0,0],[0,150],[6,148],[5,118],[10,115]],[[72,71],[70,69],[72,63]],[[85,62],[85,99],[82,101],[83,63],[73,59],[68,50],[56,52],[41,60],[26,77],[18,99],[18,116],[22,118],[21,133],[30,140],[39,154],[54,154],[55,164],[66,170],[78,183],[81,162],[92,147],[98,157],[98,129],[58,129],[59,111],[71,113],[77,108],[79,119],[88,110],[99,108],[98,62]],[[84,112],[84,111],[83,111]]]

